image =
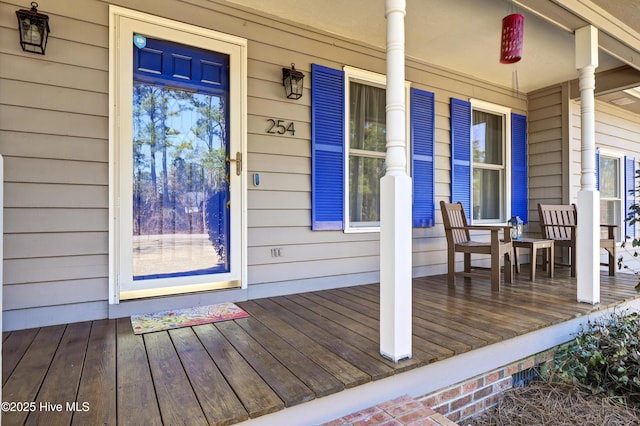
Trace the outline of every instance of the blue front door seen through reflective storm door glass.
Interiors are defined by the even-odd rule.
[[[133,49],[133,281],[230,271],[229,57]]]

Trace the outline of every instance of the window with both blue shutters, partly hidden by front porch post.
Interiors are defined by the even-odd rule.
[[[337,70],[317,64],[312,64],[311,78],[311,229],[378,231],[386,79],[350,67]],[[428,227],[435,217],[434,96],[412,88],[406,98],[412,222],[414,227]]]

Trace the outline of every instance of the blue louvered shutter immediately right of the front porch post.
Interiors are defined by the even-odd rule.
[[[435,223],[434,185],[434,97],[411,89],[411,170],[413,175],[413,226]]]

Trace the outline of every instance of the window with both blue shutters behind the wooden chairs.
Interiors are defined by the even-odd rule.
[[[451,99],[451,200],[475,223],[528,221],[527,119],[499,105]]]

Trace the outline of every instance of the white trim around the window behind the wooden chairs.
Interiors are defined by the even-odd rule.
[[[506,225],[511,217],[511,111],[509,107],[498,105],[479,99],[469,99],[471,103],[471,112],[474,110],[486,111],[492,114],[504,116],[504,221],[496,221],[493,219],[474,220],[475,224],[501,224]],[[472,120],[473,125],[473,120]],[[471,141],[470,143],[473,143]],[[473,147],[471,154],[471,205],[473,206]],[[472,214],[473,212],[469,212]]]

